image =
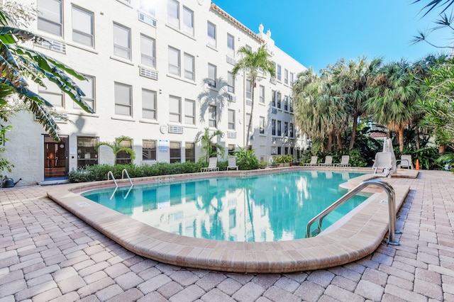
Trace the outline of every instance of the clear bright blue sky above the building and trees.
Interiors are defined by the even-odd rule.
[[[382,57],[384,61],[419,60],[440,53],[426,43],[411,45],[418,30],[435,26],[436,13],[423,17],[424,3],[414,0],[213,0],[233,18],[258,33],[265,32],[280,49],[314,71],[341,57],[355,60]],[[438,10],[440,12],[441,10]],[[429,35],[436,45],[446,45],[450,32]]]

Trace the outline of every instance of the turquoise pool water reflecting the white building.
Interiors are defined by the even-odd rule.
[[[98,189],[82,196],[160,230],[189,237],[265,242],[306,237],[306,225],[346,193],[358,173],[299,171]],[[112,197],[112,198],[111,198]],[[365,201],[355,196],[323,219],[323,229]]]

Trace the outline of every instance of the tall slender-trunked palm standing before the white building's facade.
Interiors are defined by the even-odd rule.
[[[260,76],[267,76],[270,74],[271,77],[276,76],[275,64],[270,61],[270,53],[267,51],[266,45],[258,47],[257,52],[250,50],[248,47],[241,47],[238,53],[243,55],[236,65],[232,69],[233,78],[236,78],[238,72],[243,70],[248,74],[252,92],[252,106],[250,106],[250,118],[248,123],[248,133],[246,135],[246,147],[249,145],[249,133],[250,127],[253,121],[254,111],[254,90],[257,78]]]

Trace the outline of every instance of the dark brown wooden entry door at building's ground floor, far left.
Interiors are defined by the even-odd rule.
[[[60,135],[56,142],[44,136],[44,178],[66,178],[68,174],[68,138]]]

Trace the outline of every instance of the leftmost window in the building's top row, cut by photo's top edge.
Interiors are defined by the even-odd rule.
[[[38,29],[62,36],[61,0],[38,0]]]

